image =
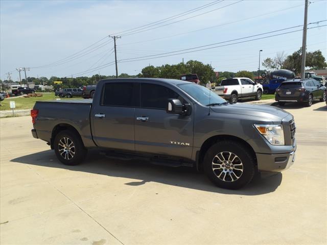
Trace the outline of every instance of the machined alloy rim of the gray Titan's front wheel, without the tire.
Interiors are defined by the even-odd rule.
[[[233,182],[242,176],[243,163],[235,153],[220,152],[212,161],[212,169],[218,179]]]

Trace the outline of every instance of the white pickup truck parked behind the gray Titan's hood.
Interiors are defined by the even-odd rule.
[[[228,78],[221,81],[215,92],[224,99],[236,103],[240,98],[254,97],[261,100],[262,85],[249,78]]]

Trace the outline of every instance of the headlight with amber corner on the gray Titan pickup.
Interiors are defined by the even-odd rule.
[[[284,145],[284,131],[282,125],[254,124],[254,127],[273,145]]]

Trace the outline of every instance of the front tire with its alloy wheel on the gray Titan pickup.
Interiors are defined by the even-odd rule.
[[[254,165],[254,157],[249,149],[232,140],[212,145],[203,161],[204,173],[209,180],[225,189],[239,189],[247,185],[254,176]]]

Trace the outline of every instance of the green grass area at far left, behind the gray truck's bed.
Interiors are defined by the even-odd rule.
[[[15,110],[21,110],[21,109],[32,109],[35,102],[37,101],[53,101],[58,98],[58,96],[55,96],[55,93],[42,93],[42,97],[19,97],[15,98],[12,97],[11,99],[6,98],[4,101],[1,102],[0,110],[11,110],[10,109],[10,102],[14,101],[16,104]],[[67,99],[67,98],[61,98],[61,100],[76,100],[76,99],[81,99],[81,97],[74,97],[72,99]]]

